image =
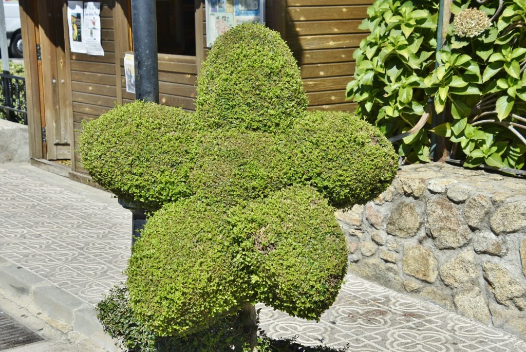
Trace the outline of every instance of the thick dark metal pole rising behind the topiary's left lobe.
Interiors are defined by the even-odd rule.
[[[131,0],[135,98],[159,103],[155,0]]]

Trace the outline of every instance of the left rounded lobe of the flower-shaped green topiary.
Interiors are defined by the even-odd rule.
[[[154,210],[190,195],[188,173],[198,144],[194,114],[136,101],[82,128],[84,168],[119,199]]]

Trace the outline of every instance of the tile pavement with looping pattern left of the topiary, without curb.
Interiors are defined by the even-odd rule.
[[[63,186],[49,185],[39,173],[30,177],[0,165],[0,255],[95,304],[124,279],[131,213],[102,190],[61,176]],[[68,185],[104,194],[107,201]]]

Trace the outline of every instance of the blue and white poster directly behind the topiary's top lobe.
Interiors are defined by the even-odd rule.
[[[265,0],[206,0],[206,42],[241,23],[264,23]]]

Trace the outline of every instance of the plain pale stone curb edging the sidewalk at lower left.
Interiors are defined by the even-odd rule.
[[[32,307],[67,329],[84,334],[100,347],[110,352],[120,351],[115,340],[104,332],[93,305],[2,256],[0,291],[22,306]]]

